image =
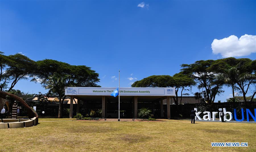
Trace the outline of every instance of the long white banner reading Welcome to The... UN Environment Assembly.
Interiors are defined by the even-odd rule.
[[[66,87],[65,95],[110,96],[116,88]],[[120,96],[175,96],[175,88],[120,88]]]

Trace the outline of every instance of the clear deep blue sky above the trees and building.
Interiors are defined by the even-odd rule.
[[[225,52],[213,53],[214,39],[256,35],[255,1],[0,1],[0,9],[2,52],[92,67],[102,87],[118,85],[118,69],[121,87],[129,87],[174,75],[181,64],[223,58]],[[15,89],[46,92],[29,81]],[[216,101],[231,94],[225,90]]]

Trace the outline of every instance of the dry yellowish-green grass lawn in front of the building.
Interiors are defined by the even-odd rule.
[[[39,119],[37,126],[0,130],[0,151],[256,151],[256,124],[188,120],[158,122]],[[248,147],[211,147],[248,142]]]

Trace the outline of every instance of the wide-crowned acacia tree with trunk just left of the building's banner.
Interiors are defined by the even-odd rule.
[[[33,81],[40,82],[41,85],[59,95],[59,115],[63,117],[63,102],[65,99],[66,86],[98,86],[96,83],[99,74],[90,67],[71,66],[56,60],[37,61],[37,70],[34,72]]]

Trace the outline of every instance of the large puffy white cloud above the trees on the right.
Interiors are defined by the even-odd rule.
[[[230,35],[224,39],[214,39],[212,53],[221,54],[222,57],[247,56],[256,52],[256,35],[242,35],[239,39],[236,35]]]

